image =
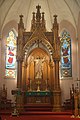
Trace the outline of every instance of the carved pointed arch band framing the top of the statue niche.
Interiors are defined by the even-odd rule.
[[[26,43],[26,45],[24,46],[24,52],[26,53],[26,55],[34,50],[34,48],[41,48],[44,51],[46,51],[48,53],[48,55],[50,56],[50,58],[52,58],[52,54],[54,53],[54,49],[51,46],[51,44],[49,43],[49,41],[47,39],[45,39],[44,37],[42,38],[40,37],[33,37],[32,39],[28,40],[28,42]]]

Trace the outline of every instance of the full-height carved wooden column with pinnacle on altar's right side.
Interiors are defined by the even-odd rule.
[[[60,41],[58,37],[58,23],[57,15],[54,15],[54,24],[53,24],[53,61],[54,61],[54,88],[53,88],[53,111],[61,111],[61,89],[60,89],[60,80],[59,80],[59,61],[60,61]]]

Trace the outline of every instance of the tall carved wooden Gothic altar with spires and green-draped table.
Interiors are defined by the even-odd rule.
[[[57,15],[51,32],[46,29],[44,12],[36,6],[33,12],[31,31],[24,29],[20,15],[17,38],[17,104],[44,104],[61,111],[61,89],[59,81],[60,41]]]

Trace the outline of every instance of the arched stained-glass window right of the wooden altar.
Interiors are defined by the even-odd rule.
[[[72,77],[71,37],[64,30],[61,34],[61,78]]]

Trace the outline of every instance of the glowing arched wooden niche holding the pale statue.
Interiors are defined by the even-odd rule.
[[[34,50],[28,57],[28,90],[45,91],[48,90],[49,79],[49,58],[40,49]]]

